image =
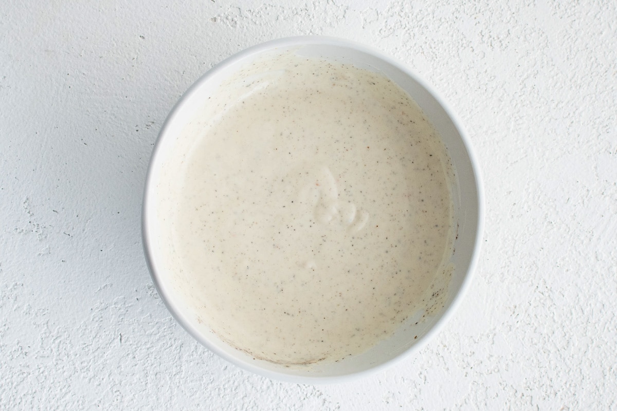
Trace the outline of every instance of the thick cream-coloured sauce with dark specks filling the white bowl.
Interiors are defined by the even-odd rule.
[[[254,357],[312,364],[426,309],[452,254],[453,172],[418,105],[384,76],[294,54],[221,90],[161,183],[168,265],[197,320]]]

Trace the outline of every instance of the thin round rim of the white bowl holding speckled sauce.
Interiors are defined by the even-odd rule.
[[[471,251],[471,258],[468,267],[466,268],[466,274],[463,277],[463,281],[455,291],[455,295],[453,296],[452,303],[448,307],[444,309],[442,314],[437,318],[435,324],[429,328],[428,332],[424,333],[423,336],[418,338],[413,346],[401,352],[399,355],[393,357],[392,359],[386,360],[384,362],[380,362],[379,364],[375,364],[369,368],[364,370],[360,370],[357,372],[348,373],[345,375],[336,375],[336,376],[300,376],[300,375],[292,375],[283,372],[276,372],[272,370],[267,370],[265,368],[259,367],[257,365],[251,364],[249,362],[243,361],[236,356],[230,355],[228,352],[222,351],[218,349],[216,346],[210,343],[209,339],[206,338],[201,333],[191,327],[187,320],[184,319],[181,312],[176,309],[175,306],[171,303],[172,298],[170,298],[170,293],[166,290],[162,280],[159,278],[155,267],[154,267],[154,254],[152,250],[152,246],[149,242],[150,238],[150,230],[148,227],[147,216],[149,215],[149,194],[152,189],[152,174],[153,169],[159,165],[157,158],[159,158],[159,152],[161,147],[161,142],[165,138],[165,135],[168,134],[167,130],[170,127],[170,124],[174,121],[178,113],[181,112],[184,104],[187,100],[195,92],[197,89],[209,80],[209,78],[217,75],[219,72],[225,70],[227,67],[238,63],[246,57],[254,54],[260,54],[262,52],[272,51],[278,48],[289,48],[293,46],[337,46],[337,47],[346,47],[348,49],[353,49],[358,52],[362,52],[365,54],[369,54],[376,59],[383,60],[384,63],[392,65],[393,67],[399,69],[405,75],[410,76],[416,83],[420,84],[429,95],[431,95],[444,110],[446,115],[450,118],[455,127],[458,135],[460,136],[463,146],[466,150],[466,157],[468,157],[471,165],[471,171],[474,177],[474,185],[476,189],[476,203],[477,207],[477,222],[476,222],[476,238],[474,239],[473,249]],[[260,43],[252,47],[248,47],[236,54],[231,55],[230,57],[222,60],[220,63],[217,63],[214,67],[210,68],[210,70],[206,71],[203,75],[201,75],[194,83],[182,94],[180,99],[173,106],[172,110],[165,118],[164,123],[162,124],[157,139],[154,143],[154,148],[152,149],[151,157],[147,166],[146,173],[146,181],[144,185],[143,192],[143,203],[142,203],[142,214],[141,214],[141,238],[143,244],[144,255],[146,257],[147,267],[150,271],[152,282],[154,283],[157,292],[159,293],[160,298],[164,302],[168,311],[176,322],[180,324],[189,335],[193,336],[195,340],[199,341],[205,348],[209,349],[209,351],[214,352],[219,357],[231,362],[231,364],[237,365],[244,370],[250,371],[257,375],[266,376],[268,378],[273,378],[279,381],[286,381],[289,383],[304,383],[304,384],[315,384],[315,383],[341,383],[350,380],[356,380],[357,378],[361,378],[363,376],[375,374],[377,372],[383,371],[386,368],[391,367],[395,363],[401,362],[404,359],[412,356],[416,352],[420,351],[420,349],[424,348],[428,341],[432,340],[434,336],[436,336],[439,332],[441,332],[442,328],[444,328],[445,324],[451,319],[452,315],[455,311],[457,311],[460,303],[462,302],[463,297],[468,292],[471,282],[473,280],[474,272],[476,271],[476,267],[478,265],[479,253],[481,248],[481,240],[484,229],[484,191],[482,189],[482,176],[480,171],[480,166],[476,155],[474,154],[473,147],[471,145],[471,141],[466,133],[465,129],[462,126],[462,123],[455,112],[453,112],[452,108],[445,102],[444,98],[437,92],[431,85],[426,83],[419,75],[415,73],[415,71],[411,70],[404,63],[398,62],[397,60],[384,55],[381,51],[366,46],[364,44],[357,43],[355,41],[350,41],[348,39],[336,38],[330,36],[293,36],[293,37],[285,37],[273,39],[270,41],[266,41],[265,43]],[[471,227],[473,228],[473,227]]]

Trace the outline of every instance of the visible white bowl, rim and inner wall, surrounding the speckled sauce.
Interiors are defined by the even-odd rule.
[[[165,272],[160,259],[159,230],[155,213],[157,180],[166,153],[175,142],[175,136],[191,117],[193,110],[204,101],[204,96],[234,73],[239,67],[265,53],[284,52],[290,48],[306,57],[321,57],[353,65],[386,75],[407,91],[424,110],[429,121],[441,134],[456,171],[453,187],[455,224],[458,226],[452,262],[455,267],[444,308],[428,316],[419,325],[400,327],[390,338],[358,356],[334,364],[315,365],[310,369],[294,369],[283,365],[256,360],[249,354],[233,348],[213,333],[204,333],[194,323],[181,296],[173,290],[173,273]],[[342,381],[352,376],[380,370],[393,362],[417,352],[441,328],[462,298],[476,266],[482,233],[482,185],[478,163],[471,144],[460,122],[444,100],[417,75],[400,63],[379,52],[346,40],[321,36],[284,38],[250,47],[219,63],[196,81],[184,94],[167,117],[152,153],[147,174],[143,204],[143,241],[146,259],[154,284],[173,316],[200,343],[224,359],[254,373],[285,381],[321,383]],[[230,307],[232,309],[232,307]]]

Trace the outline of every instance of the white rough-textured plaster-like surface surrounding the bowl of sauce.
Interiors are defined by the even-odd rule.
[[[0,409],[617,409],[617,3],[0,4]],[[180,4],[180,2],[178,2]],[[417,356],[302,386],[199,346],[140,237],[157,132],[247,46],[375,46],[460,115],[486,188],[473,287]]]

